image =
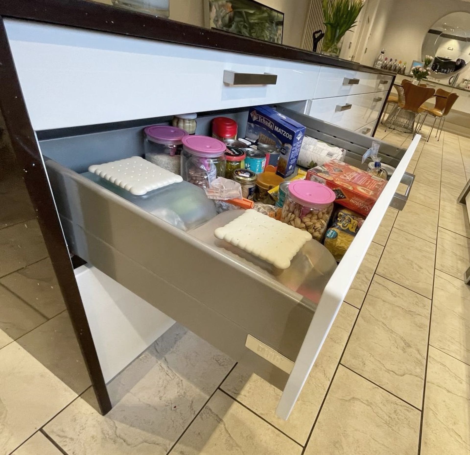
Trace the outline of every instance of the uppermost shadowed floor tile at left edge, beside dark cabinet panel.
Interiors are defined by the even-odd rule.
[[[46,245],[36,220],[0,230],[0,277],[46,256]]]

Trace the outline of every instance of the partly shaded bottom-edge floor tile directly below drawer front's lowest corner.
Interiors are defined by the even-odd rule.
[[[300,455],[302,447],[219,390],[171,455]]]

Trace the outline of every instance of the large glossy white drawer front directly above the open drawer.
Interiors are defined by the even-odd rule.
[[[35,130],[306,100],[320,71],[307,63],[5,23]],[[227,71],[252,76],[241,81],[251,85],[224,83]]]

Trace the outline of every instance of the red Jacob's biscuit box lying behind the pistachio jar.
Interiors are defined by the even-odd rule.
[[[335,202],[366,216],[387,184],[386,180],[339,160],[308,170],[306,180],[328,186],[336,194]]]

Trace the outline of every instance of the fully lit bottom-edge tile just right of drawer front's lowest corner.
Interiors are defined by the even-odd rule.
[[[305,455],[416,455],[420,417],[340,365]]]

